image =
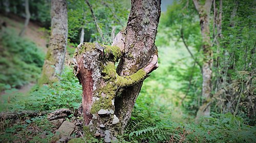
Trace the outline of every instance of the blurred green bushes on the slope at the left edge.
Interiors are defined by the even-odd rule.
[[[35,43],[5,29],[0,33],[0,91],[35,82],[44,64],[44,54]]]

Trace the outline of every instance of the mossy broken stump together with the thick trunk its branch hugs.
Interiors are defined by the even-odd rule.
[[[105,142],[123,133],[143,80],[158,67],[155,38],[160,4],[159,0],[132,1],[127,26],[112,46],[82,43],[74,54],[74,73],[83,89],[83,119]]]

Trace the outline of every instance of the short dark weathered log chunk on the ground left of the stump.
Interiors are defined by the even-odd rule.
[[[52,120],[56,120],[56,119],[63,119],[70,115],[71,115],[70,109],[62,108],[62,109],[57,109],[57,110],[49,113],[47,118],[49,121],[52,121]]]

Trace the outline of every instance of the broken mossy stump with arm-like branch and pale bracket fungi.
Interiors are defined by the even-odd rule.
[[[82,43],[74,54],[74,73],[82,84],[82,112],[85,125],[96,137],[105,142],[115,139],[120,133],[122,121],[115,115],[117,91],[131,87],[144,80],[157,68],[157,55],[150,64],[131,76],[119,76],[115,63],[121,57],[117,46],[98,43]]]

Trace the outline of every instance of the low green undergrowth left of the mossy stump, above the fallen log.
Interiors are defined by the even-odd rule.
[[[82,88],[74,76],[72,68],[66,66],[59,82],[52,85],[35,85],[25,101],[13,102],[10,110],[54,110],[78,108],[81,103]]]

